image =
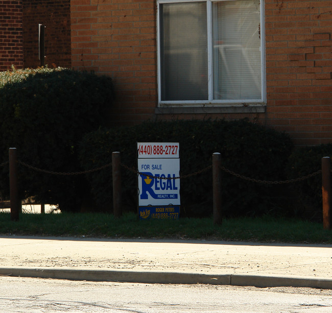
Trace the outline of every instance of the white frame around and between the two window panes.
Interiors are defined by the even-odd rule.
[[[241,0],[157,0],[157,75],[158,75],[158,107],[262,107],[266,105],[266,69],[265,69],[265,23],[264,0],[260,0],[260,75],[262,78],[262,99],[213,100],[213,64],[212,64],[212,2]],[[162,101],[161,100],[161,60],[160,60],[160,5],[169,3],[206,2],[207,3],[207,57],[208,57],[208,100],[198,101]],[[238,110],[237,110],[238,112]],[[156,113],[162,113],[156,111]]]

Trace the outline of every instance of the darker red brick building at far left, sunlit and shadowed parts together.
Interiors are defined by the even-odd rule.
[[[71,67],[70,0],[0,0],[0,70],[35,68],[39,28],[45,28],[45,63]]]

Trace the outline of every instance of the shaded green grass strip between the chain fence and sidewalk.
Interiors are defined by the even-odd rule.
[[[2,212],[0,234],[332,244],[332,230],[322,224],[269,216],[225,219],[217,226],[212,218],[139,221],[134,213],[120,219],[105,213],[26,213],[15,222]]]

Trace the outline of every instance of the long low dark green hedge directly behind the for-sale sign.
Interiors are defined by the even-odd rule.
[[[229,170],[261,180],[283,180],[284,167],[293,145],[288,135],[240,121],[145,122],[138,126],[100,129],[87,134],[80,145],[80,160],[88,170],[111,162],[120,151],[122,162],[137,168],[136,142],[179,142],[180,174],[191,174],[211,164],[212,153],[220,152]],[[137,178],[125,168],[123,199],[128,209],[137,205]],[[181,180],[182,216],[212,213],[211,171]],[[99,210],[112,205],[111,168],[89,175],[92,194]],[[279,197],[271,185],[252,183],[223,174],[225,216],[257,215],[278,210]]]

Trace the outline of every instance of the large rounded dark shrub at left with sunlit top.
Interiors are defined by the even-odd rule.
[[[15,147],[18,159],[33,166],[54,172],[81,170],[77,145],[104,123],[112,104],[111,79],[63,68],[5,72],[1,77],[2,160],[8,160],[8,148]],[[19,173],[21,197],[79,210],[84,178],[43,174],[21,165]],[[0,186],[8,195],[8,167],[3,168]]]

